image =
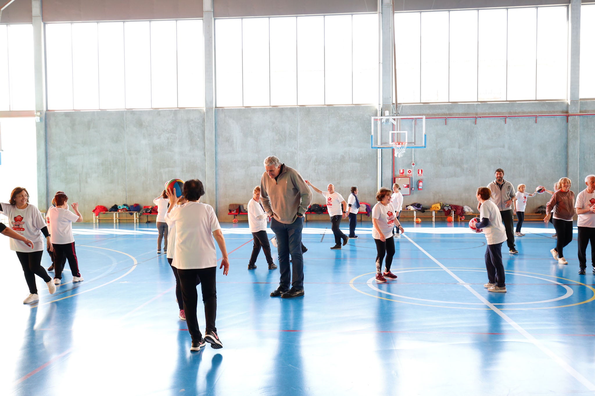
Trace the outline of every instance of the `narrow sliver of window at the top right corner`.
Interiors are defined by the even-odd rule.
[[[595,98],[595,5],[581,7],[581,98]]]

